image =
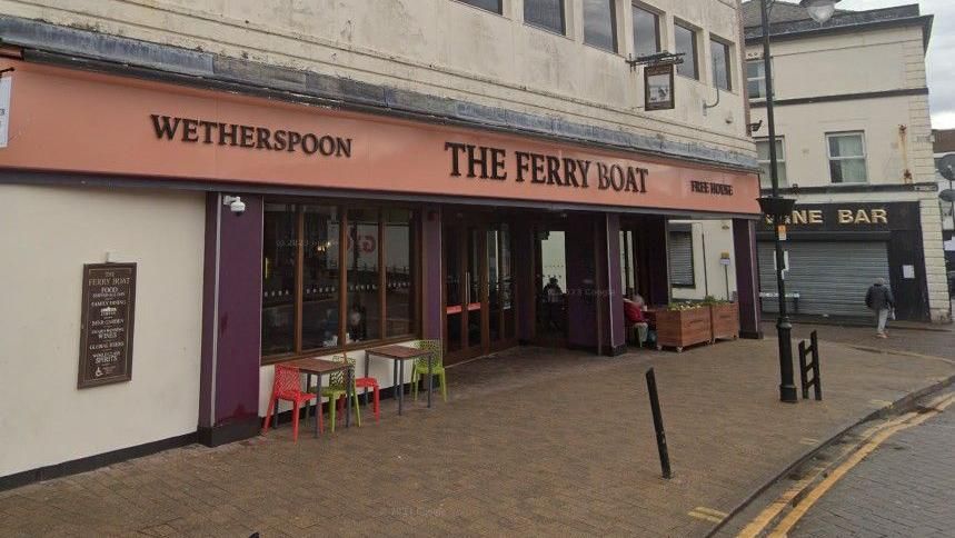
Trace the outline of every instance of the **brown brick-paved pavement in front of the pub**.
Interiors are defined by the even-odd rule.
[[[776,342],[614,359],[521,348],[449,370],[451,401],[290,442],[192,446],[0,492],[2,536],[700,536],[878,400],[955,373],[824,346],[826,400],[777,402]],[[659,478],[644,386],[657,370],[676,477]],[[412,406],[414,407],[414,406]],[[64,440],[66,441],[66,440]],[[699,512],[699,511],[697,511]]]

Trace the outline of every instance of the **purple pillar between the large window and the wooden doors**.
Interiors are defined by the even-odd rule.
[[[421,243],[424,256],[424,275],[421,275],[421,283],[424,293],[421,297],[421,322],[424,328],[421,333],[428,339],[442,338],[444,331],[444,312],[442,310],[442,293],[445,290],[444,279],[441,278],[441,208],[431,206],[424,208],[424,222],[421,226]]]

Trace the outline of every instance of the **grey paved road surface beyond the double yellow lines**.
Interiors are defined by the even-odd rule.
[[[955,536],[955,407],[891,437],[789,536]]]

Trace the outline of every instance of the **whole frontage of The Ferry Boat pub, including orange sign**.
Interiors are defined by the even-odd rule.
[[[619,353],[621,296],[670,299],[668,219],[727,222],[758,336],[734,0],[0,13],[3,485],[255,436],[298,357]],[[626,60],[660,51],[676,106],[647,111]]]

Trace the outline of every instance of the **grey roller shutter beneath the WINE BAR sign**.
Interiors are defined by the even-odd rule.
[[[799,293],[798,313],[815,316],[871,316],[865,293],[876,278],[888,280],[885,242],[786,242],[789,271],[786,292]],[[776,292],[772,242],[759,243],[760,291]],[[793,307],[792,299],[787,303]],[[776,299],[763,299],[763,310],[777,312]]]

